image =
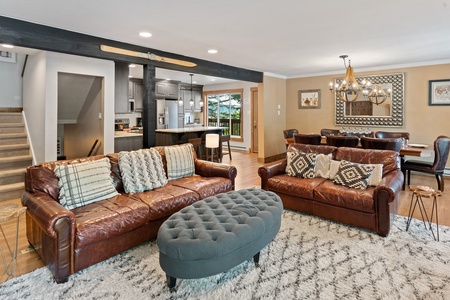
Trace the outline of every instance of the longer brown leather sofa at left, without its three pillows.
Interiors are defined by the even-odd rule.
[[[164,147],[155,147],[167,163]],[[234,190],[236,168],[197,160],[195,175],[169,181],[164,187],[126,194],[118,154],[106,155],[111,163],[114,198],[67,210],[58,202],[57,165],[98,160],[105,156],[45,162],[29,167],[22,204],[27,207],[29,243],[58,283],[71,274],[156,238],[161,224],[173,213],[205,197]]]

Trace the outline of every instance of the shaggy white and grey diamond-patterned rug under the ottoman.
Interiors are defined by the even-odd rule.
[[[450,228],[440,242],[397,217],[387,238],[285,211],[275,240],[229,272],[170,293],[150,242],[56,284],[47,268],[0,285],[0,299],[450,299]]]

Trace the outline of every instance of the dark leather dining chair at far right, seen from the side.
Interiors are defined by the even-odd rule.
[[[405,189],[406,179],[408,186],[411,182],[411,171],[434,174],[438,183],[438,190],[444,191],[444,168],[447,164],[448,153],[450,148],[450,138],[447,136],[439,136],[434,141],[434,161],[423,162],[417,160],[407,160],[402,164],[402,172],[405,175],[403,181],[403,189]]]

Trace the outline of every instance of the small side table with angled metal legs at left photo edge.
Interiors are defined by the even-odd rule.
[[[11,254],[11,261],[9,263],[6,262],[5,254],[3,252],[3,248],[0,245],[0,252],[2,254],[3,264],[5,265],[5,271],[8,276],[13,276],[14,274],[14,262],[17,258],[17,244],[19,240],[19,217],[24,214],[27,210],[26,207],[19,207],[18,204],[3,204],[0,205],[0,230],[2,231],[3,239],[6,242],[6,246],[8,247],[9,253]],[[12,220],[16,218],[16,237],[14,243],[14,251],[11,251],[11,247],[9,246],[8,240],[6,239],[5,232],[3,231],[2,223]],[[11,270],[10,270],[11,266]]]

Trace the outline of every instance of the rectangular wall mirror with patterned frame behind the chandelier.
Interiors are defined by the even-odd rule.
[[[403,126],[404,74],[369,75],[357,77],[361,84],[366,79],[372,85],[381,85],[383,89],[391,89],[391,95],[381,104],[373,104],[367,96],[361,96],[354,102],[343,102],[334,96],[335,124],[342,126]],[[343,79],[336,79],[340,84]]]

